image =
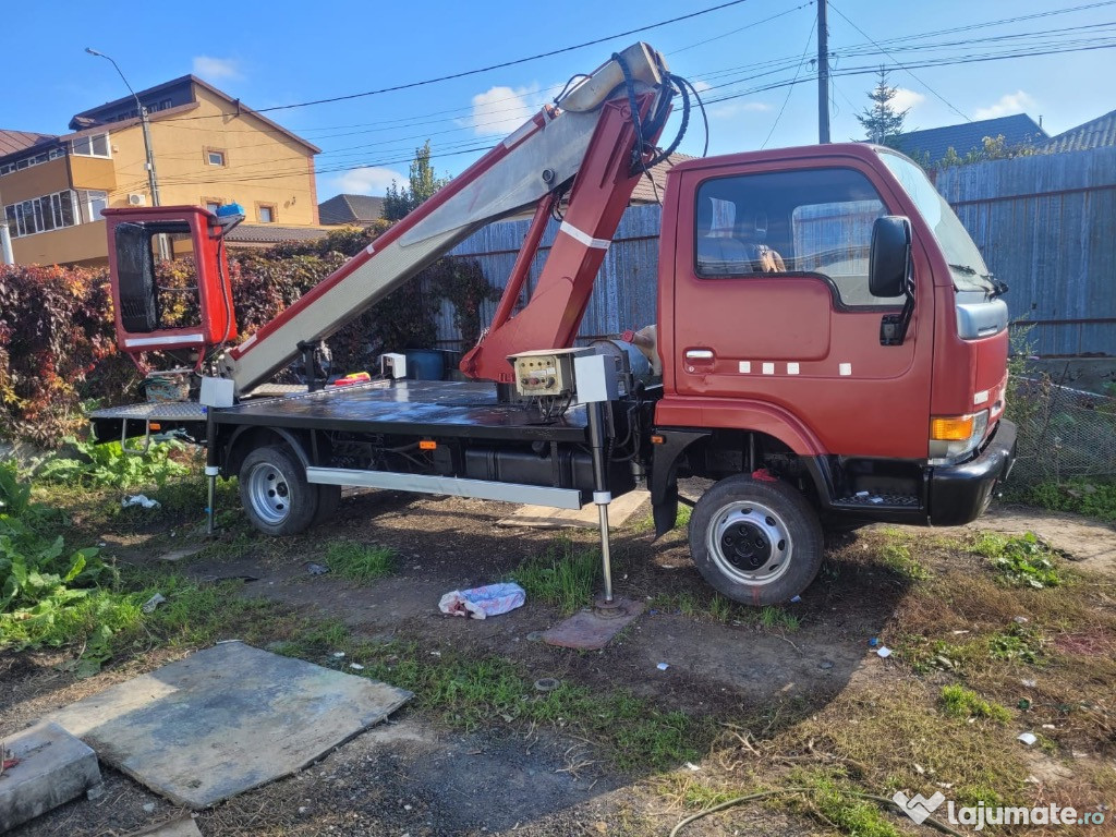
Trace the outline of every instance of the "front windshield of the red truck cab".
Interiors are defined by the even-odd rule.
[[[896,176],[918,208],[918,214],[934,230],[934,237],[950,264],[953,287],[958,290],[994,292],[995,287],[980,250],[922,169],[899,154],[883,148],[878,152],[884,165]]]

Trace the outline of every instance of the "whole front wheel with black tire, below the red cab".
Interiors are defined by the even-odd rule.
[[[795,488],[740,474],[706,491],[690,518],[690,554],[718,593],[777,605],[802,593],[821,567],[821,523]]]

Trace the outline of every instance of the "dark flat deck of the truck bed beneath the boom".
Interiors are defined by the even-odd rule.
[[[464,381],[376,381],[211,411],[218,424],[299,430],[584,442],[584,407],[543,421],[538,407],[502,404],[493,384]]]

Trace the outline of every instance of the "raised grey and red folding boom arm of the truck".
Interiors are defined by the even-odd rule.
[[[646,119],[656,112],[661,97],[671,96],[665,62],[646,44],[629,47],[619,58],[581,79],[559,107],[545,107],[279,317],[230,349],[222,372],[232,378],[237,393],[267,381],[294,360],[301,347],[329,337],[480,228],[531,208],[536,213],[527,239],[529,252],[517,260],[498,319],[466,355],[462,369],[471,377],[506,382],[511,379],[509,354],[571,345],[597,270],[639,177],[633,167],[636,136],[629,102],[634,98]],[[644,137],[646,144],[654,143],[657,129],[656,136]],[[547,209],[570,181],[569,205],[536,291],[510,317]]]

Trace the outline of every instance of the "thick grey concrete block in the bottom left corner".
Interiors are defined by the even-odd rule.
[[[0,776],[0,834],[100,785],[97,754],[56,723],[40,721],[3,749],[19,763]]]

